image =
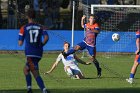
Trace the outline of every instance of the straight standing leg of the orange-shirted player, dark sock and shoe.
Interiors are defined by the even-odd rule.
[[[100,77],[102,69],[99,65],[98,60],[96,59],[96,47],[87,46],[87,50],[88,50],[89,54],[92,56],[92,62],[94,63],[94,65],[97,69],[97,77]]]

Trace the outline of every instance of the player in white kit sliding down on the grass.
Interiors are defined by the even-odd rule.
[[[69,50],[70,44],[68,42],[64,42],[64,52],[67,52]],[[86,63],[82,60],[80,60],[76,55],[74,54],[70,54],[69,56],[67,56],[66,58],[64,58],[64,56],[62,55],[62,53],[60,53],[56,59],[56,62],[54,62],[54,64],[52,65],[51,69],[49,71],[47,71],[44,74],[49,74],[51,73],[58,65],[58,63],[60,63],[60,61],[62,60],[63,64],[64,64],[64,70],[67,73],[67,75],[69,77],[71,77],[72,79],[83,79],[84,76],[81,72],[81,70],[79,69],[76,61],[78,61],[81,64],[85,64],[88,65],[90,63]]]

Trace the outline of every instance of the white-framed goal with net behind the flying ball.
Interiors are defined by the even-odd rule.
[[[140,27],[139,5],[91,5],[91,14],[95,14],[101,24],[101,33],[97,39],[97,49],[105,53],[133,53],[135,32]],[[112,34],[118,33],[120,40],[112,41]]]

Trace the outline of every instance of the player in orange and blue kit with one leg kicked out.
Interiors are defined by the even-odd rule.
[[[100,77],[101,67],[99,66],[99,62],[96,59],[96,37],[99,34],[100,28],[95,20],[94,15],[90,15],[89,22],[87,24],[84,24],[85,18],[86,16],[83,15],[81,19],[81,26],[86,29],[84,40],[77,44],[74,49],[69,50],[67,53],[63,52],[62,54],[64,55],[64,57],[66,57],[78,50],[87,49],[90,56],[92,57],[92,62],[97,68],[97,77]]]

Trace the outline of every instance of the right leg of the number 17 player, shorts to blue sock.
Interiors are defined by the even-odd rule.
[[[38,62],[39,61],[40,61],[40,58],[35,58],[35,57],[29,57],[28,58],[30,70],[31,70],[38,86],[40,87],[40,89],[42,90],[43,93],[47,93],[44,82],[43,82],[43,80],[42,80],[42,78],[39,74],[39,67],[38,67]]]

